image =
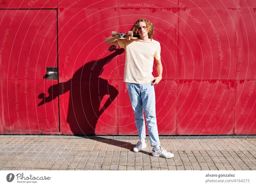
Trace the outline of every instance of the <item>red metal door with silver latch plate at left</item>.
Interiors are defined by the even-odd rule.
[[[58,79],[46,73],[58,67],[57,9],[2,9],[0,20],[3,133],[59,132]]]

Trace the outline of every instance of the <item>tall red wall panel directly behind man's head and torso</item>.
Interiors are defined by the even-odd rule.
[[[150,11],[150,13],[149,13]],[[156,9],[131,9],[120,8],[118,11],[119,30],[117,32],[128,32],[134,23],[140,19],[146,18],[155,25],[155,35],[153,39],[161,44],[161,60],[163,63],[163,79],[174,79],[178,77],[177,50],[178,46],[178,12],[177,9],[168,9],[163,12]],[[182,52],[182,51],[181,51]],[[119,79],[124,78],[125,56],[120,56]],[[157,76],[156,66],[154,66],[153,75]]]

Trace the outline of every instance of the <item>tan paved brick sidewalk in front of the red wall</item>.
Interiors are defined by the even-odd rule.
[[[137,141],[1,136],[0,170],[256,170],[256,138],[161,139],[170,159]]]

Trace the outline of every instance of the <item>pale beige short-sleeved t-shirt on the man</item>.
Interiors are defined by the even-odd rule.
[[[154,58],[161,58],[160,43],[154,39],[117,40],[120,48],[125,49],[124,82],[147,84],[154,76]]]

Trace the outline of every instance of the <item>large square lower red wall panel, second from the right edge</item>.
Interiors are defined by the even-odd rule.
[[[178,87],[178,134],[233,134],[233,81],[180,81]]]

